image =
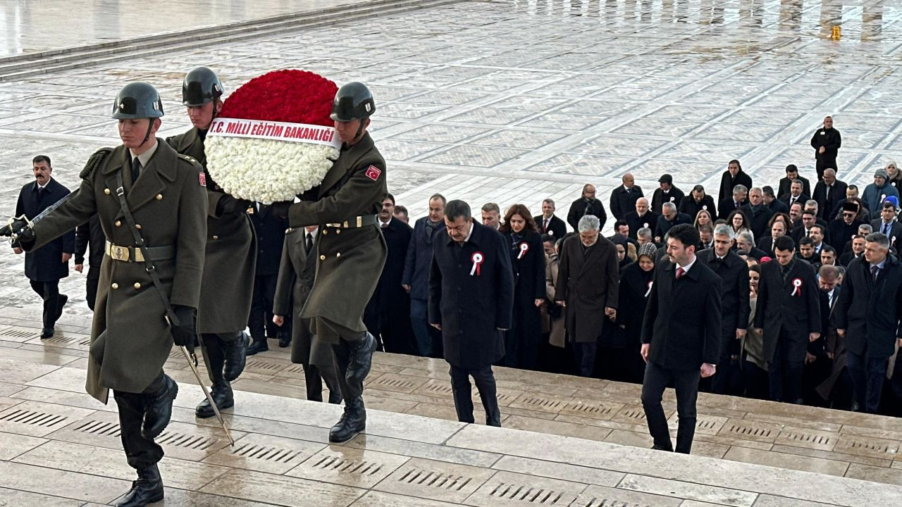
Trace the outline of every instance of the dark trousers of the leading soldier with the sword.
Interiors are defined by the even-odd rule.
[[[136,470],[153,466],[163,457],[163,448],[159,444],[141,436],[146,404],[163,389],[166,389],[166,383],[163,380],[163,373],[160,372],[143,392],[113,391],[113,397],[119,407],[122,448],[125,450],[128,465]]]

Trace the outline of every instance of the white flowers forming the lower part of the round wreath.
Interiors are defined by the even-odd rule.
[[[320,184],[338,150],[313,143],[208,135],[207,171],[235,198],[272,204]]]

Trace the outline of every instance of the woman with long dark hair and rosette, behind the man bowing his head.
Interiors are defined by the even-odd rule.
[[[500,232],[511,253],[513,267],[513,327],[507,333],[504,365],[535,370],[542,323],[539,307],[545,302],[545,248],[538,227],[522,204],[504,214]]]

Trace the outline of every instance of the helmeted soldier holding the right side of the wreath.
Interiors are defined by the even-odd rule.
[[[345,413],[329,431],[330,442],[344,442],[366,427],[364,379],[376,340],[363,316],[387,254],[376,224],[388,193],[385,160],[366,132],[374,110],[373,94],[363,84],[340,88],[331,115],[342,141],[338,160],[300,202],[273,205],[291,227],[319,226],[316,280],[300,318],[310,319],[313,334],[332,346]]]

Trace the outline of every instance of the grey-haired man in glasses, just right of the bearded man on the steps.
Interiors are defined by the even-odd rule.
[[[741,339],[749,325],[749,265],[731,250],[731,234],[730,226],[717,226],[714,247],[702,250],[697,258],[721,278],[720,355],[711,389],[718,394],[735,395],[741,394],[741,383],[730,386],[729,381],[738,376]]]

